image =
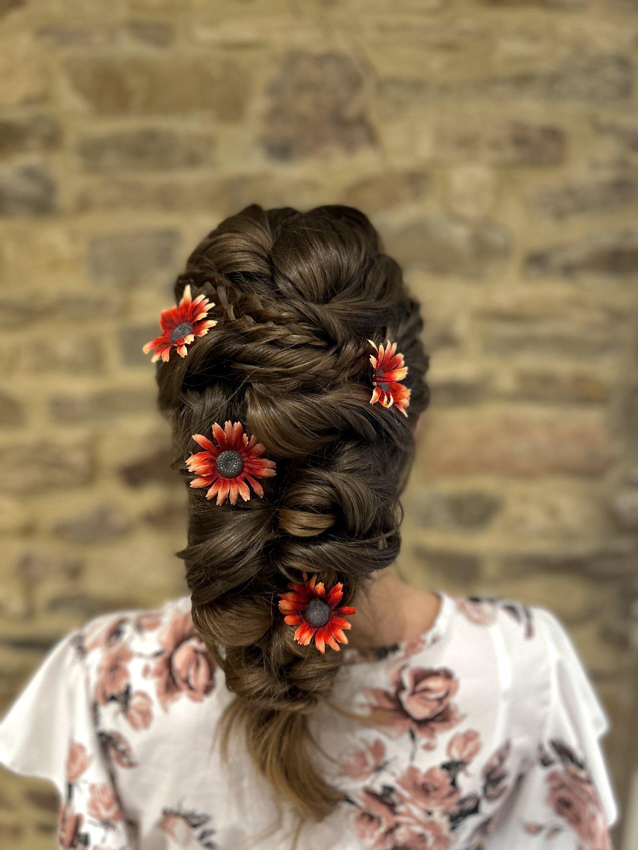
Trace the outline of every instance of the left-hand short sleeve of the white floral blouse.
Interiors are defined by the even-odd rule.
[[[60,792],[60,847],[134,847],[96,732],[79,634],[63,638],[0,724],[0,763]]]

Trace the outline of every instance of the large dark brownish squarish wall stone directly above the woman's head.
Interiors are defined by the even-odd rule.
[[[376,143],[362,70],[347,54],[288,54],[268,87],[261,137],[277,160]]]

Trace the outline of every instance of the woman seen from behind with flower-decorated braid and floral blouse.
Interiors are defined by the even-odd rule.
[[[367,218],[248,207],[175,294],[145,351],[191,596],[62,640],[0,731],[58,785],[60,847],[610,847],[559,623],[393,570],[427,358]]]

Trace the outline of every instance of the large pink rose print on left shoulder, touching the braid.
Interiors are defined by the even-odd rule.
[[[179,694],[200,702],[214,688],[214,666],[191,614],[174,616],[160,643],[164,652],[152,675],[157,679],[157,699],[162,707],[167,709]]]

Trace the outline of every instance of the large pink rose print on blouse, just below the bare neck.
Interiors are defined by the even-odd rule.
[[[419,735],[434,746],[436,735],[460,722],[453,696],[459,682],[446,667],[436,670],[402,666],[392,678],[392,691],[368,689],[369,706],[396,734]]]

